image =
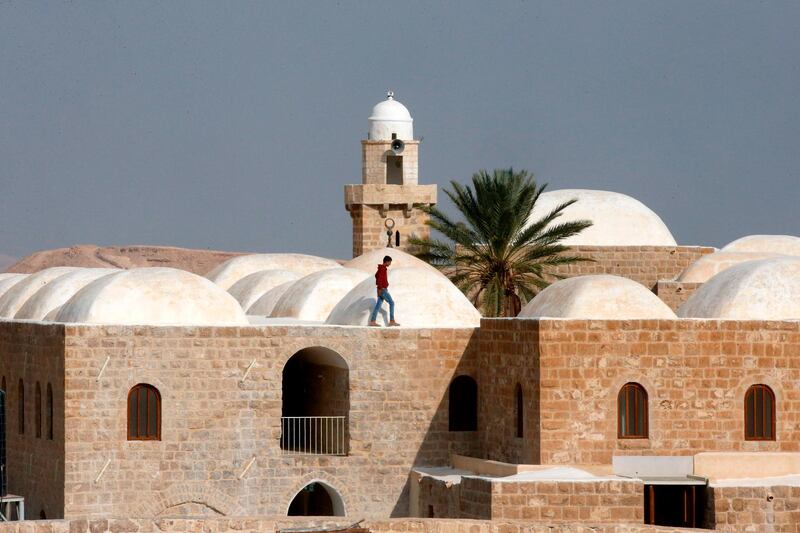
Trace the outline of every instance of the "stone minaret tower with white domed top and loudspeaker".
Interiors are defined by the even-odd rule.
[[[418,184],[419,141],[411,114],[388,93],[372,108],[369,135],[361,141],[361,184],[344,186],[344,206],[353,219],[353,257],[388,244],[404,250],[408,237],[427,237],[428,215],[420,206],[436,204],[436,185]]]

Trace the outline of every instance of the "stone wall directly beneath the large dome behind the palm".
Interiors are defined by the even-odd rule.
[[[593,259],[558,267],[568,278],[589,274],[613,274],[638,281],[654,290],[659,280],[675,279],[700,257],[714,252],[704,246],[572,246],[569,254]]]

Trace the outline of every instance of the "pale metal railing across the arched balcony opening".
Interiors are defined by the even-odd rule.
[[[347,417],[282,416],[284,454],[347,455]]]

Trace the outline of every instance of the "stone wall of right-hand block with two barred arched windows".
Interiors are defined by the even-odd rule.
[[[538,418],[539,431],[526,433],[531,442],[525,446],[539,450],[542,464],[800,450],[800,322],[484,319],[480,346],[482,403],[488,406],[513,398],[516,382],[525,383],[538,366],[538,390],[536,382],[529,387],[539,410],[527,423]],[[514,358],[526,362],[511,364]],[[496,365],[505,371],[487,370]],[[647,391],[649,438],[617,438],[617,394],[627,382]],[[757,383],[776,396],[775,441],[744,439],[744,395]],[[511,414],[504,409],[500,416]],[[513,462],[519,445],[508,424],[502,427],[500,436],[494,426],[483,435],[485,453]]]

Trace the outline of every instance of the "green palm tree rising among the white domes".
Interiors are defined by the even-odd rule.
[[[472,188],[455,181],[445,189],[464,221],[436,207],[426,208],[427,224],[445,240],[412,238],[414,255],[442,270],[484,316],[517,316],[523,303],[547,287],[559,265],[589,259],[565,255],[559,244],[592,225],[588,220],[555,224],[577,199],[556,206],[528,223],[547,184],[538,186],[528,171],[481,170]]]

